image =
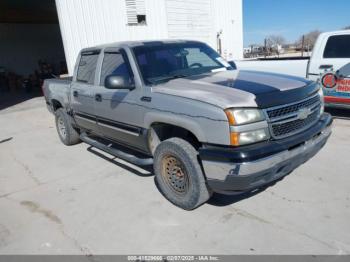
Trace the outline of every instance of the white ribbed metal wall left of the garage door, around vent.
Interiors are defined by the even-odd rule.
[[[167,38],[165,2],[145,1],[147,25],[127,25],[124,0],[56,0],[69,73],[83,47]]]

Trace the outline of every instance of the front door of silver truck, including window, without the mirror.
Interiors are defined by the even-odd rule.
[[[147,151],[146,130],[141,127],[145,109],[140,106],[142,90],[107,89],[109,75],[124,76],[134,81],[128,56],[123,49],[105,51],[101,66],[100,84],[96,87],[101,99],[95,103],[100,133],[110,139]]]

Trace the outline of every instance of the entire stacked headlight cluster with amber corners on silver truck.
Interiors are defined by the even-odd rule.
[[[257,143],[270,138],[263,112],[254,108],[225,110],[230,124],[230,141],[233,146]]]

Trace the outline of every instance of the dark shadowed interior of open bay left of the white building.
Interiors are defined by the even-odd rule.
[[[53,65],[65,60],[57,24],[0,24],[0,67],[28,76],[38,59]]]

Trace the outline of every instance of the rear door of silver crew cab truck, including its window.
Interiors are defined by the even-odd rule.
[[[71,86],[71,106],[79,127],[97,132],[95,116],[95,79],[99,50],[82,52]]]

